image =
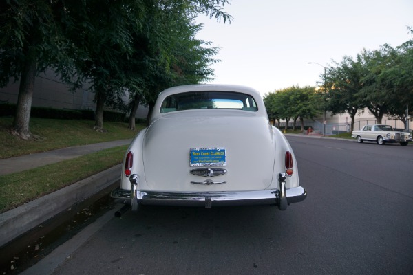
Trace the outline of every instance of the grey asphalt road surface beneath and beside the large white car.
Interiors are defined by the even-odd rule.
[[[54,274],[413,274],[412,144],[288,140],[305,201],[127,212]]]

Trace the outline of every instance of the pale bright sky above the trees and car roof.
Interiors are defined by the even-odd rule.
[[[323,66],[413,38],[413,0],[230,0],[231,23],[199,16],[197,38],[219,47],[209,83],[253,87],[264,96],[317,86]],[[319,63],[308,64],[309,62]]]

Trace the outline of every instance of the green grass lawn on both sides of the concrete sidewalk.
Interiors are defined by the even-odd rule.
[[[131,131],[127,129],[126,123],[104,122],[103,126],[107,132],[100,133],[93,130],[94,122],[89,120],[32,118],[30,131],[43,138],[41,141],[33,141],[18,140],[14,135],[10,135],[7,132],[10,124],[12,118],[0,117],[0,158],[129,139],[133,138],[138,130],[144,128],[144,125],[136,125],[138,130]],[[0,176],[0,213],[120,164],[126,150],[127,146],[109,148],[56,164],[33,168],[24,173]]]

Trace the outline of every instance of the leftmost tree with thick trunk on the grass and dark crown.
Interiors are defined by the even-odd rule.
[[[0,1],[0,86],[20,80],[17,111],[11,133],[22,139],[29,131],[34,79],[50,65],[70,63],[71,47],[63,36],[63,22],[72,23],[63,2],[45,0]]]

